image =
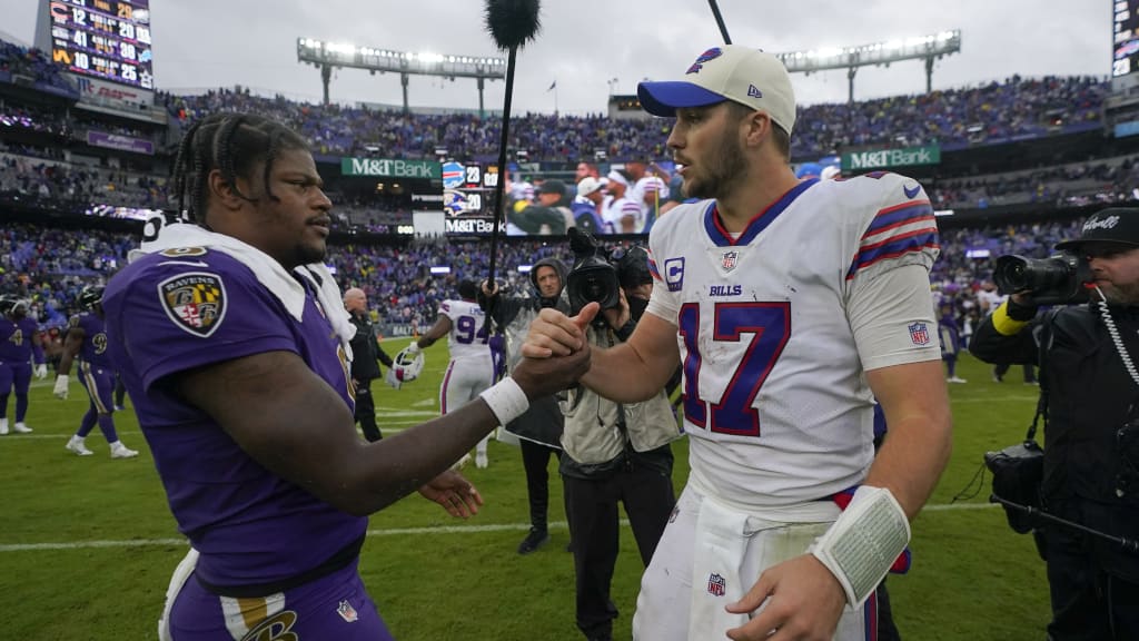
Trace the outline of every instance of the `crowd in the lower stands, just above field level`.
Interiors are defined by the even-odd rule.
[[[978,301],[978,293],[992,287],[997,257],[1043,258],[1055,243],[1077,233],[1077,220],[943,230],[931,286],[942,303],[953,306],[958,323],[967,330],[967,318],[988,308]],[[77,310],[76,297],[83,286],[109,278],[138,243],[139,237],[130,234],[5,224],[0,226],[0,294],[31,299],[33,316],[44,328],[59,326]],[[549,257],[573,262],[564,243],[511,240],[500,244],[503,290],[530,295],[525,266]],[[458,298],[460,281],[485,277],[490,249],[485,241],[334,243],[328,262],[342,289],[360,287],[377,303],[372,320],[380,327],[408,325],[421,332],[434,320],[442,300]],[[450,271],[432,274],[431,267]]]

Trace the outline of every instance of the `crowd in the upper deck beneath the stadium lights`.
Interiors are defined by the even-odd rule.
[[[967,89],[800,108],[792,157],[819,157],[843,147],[939,144],[943,149],[1099,127],[1107,83],[1090,76],[1008,78]],[[199,96],[164,95],[171,115],[191,124],[218,111],[268,114],[302,132],[323,155],[435,157],[445,148],[473,160],[498,157],[501,120],[477,114],[402,114],[366,107],[264,98],[248,89]],[[524,114],[510,121],[510,147],[533,161],[666,157],[669,124],[657,119]]]

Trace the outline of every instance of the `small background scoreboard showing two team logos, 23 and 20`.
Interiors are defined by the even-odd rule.
[[[498,181],[497,165],[443,163],[443,212],[449,235],[489,235],[494,229]]]

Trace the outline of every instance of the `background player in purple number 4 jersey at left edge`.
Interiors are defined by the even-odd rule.
[[[16,423],[13,431],[25,435],[32,428],[27,416],[27,389],[32,383],[32,358],[35,378],[48,375],[40,331],[27,315],[27,301],[14,297],[0,298],[0,436],[8,435],[8,396],[16,388]]]

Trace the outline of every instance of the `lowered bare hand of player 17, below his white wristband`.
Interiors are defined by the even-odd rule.
[[[846,593],[835,575],[812,554],[768,568],[729,612],[763,611],[728,631],[736,641],[829,641],[846,606]]]

